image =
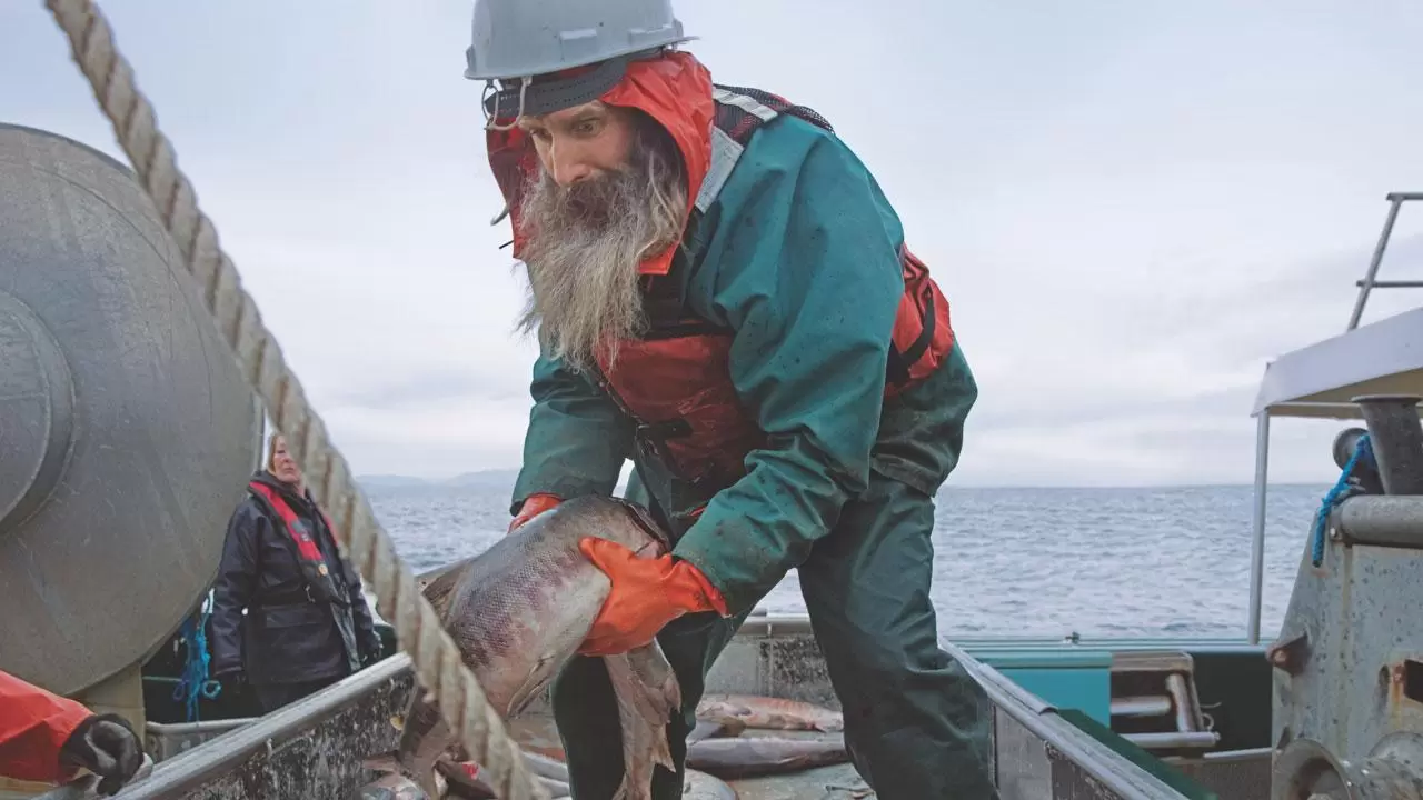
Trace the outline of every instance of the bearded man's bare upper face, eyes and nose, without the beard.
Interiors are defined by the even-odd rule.
[[[598,101],[524,117],[519,127],[534,140],[544,171],[564,188],[625,169],[638,138],[633,111]]]

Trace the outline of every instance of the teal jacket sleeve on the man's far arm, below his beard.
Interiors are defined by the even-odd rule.
[[[534,409],[511,514],[531,494],[610,495],[632,446],[632,421],[586,374],[548,353],[534,362]]]

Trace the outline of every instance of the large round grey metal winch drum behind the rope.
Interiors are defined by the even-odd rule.
[[[216,574],[260,406],[132,172],[0,124],[0,669],[81,692]]]

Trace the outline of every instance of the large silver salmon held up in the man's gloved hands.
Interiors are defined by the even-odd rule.
[[[618,542],[642,558],[667,552],[667,540],[642,508],[616,498],[581,497],[539,514],[482,554],[428,578],[423,594],[505,720],[522,712],[588,636],[608,598],[608,577],[578,549],[583,537]],[[682,706],[672,665],[656,642],[605,656],[623,735],[619,800],[652,797],[655,764],[676,770],[666,727]],[[461,757],[433,698],[411,692],[396,759],[431,791],[441,759]]]

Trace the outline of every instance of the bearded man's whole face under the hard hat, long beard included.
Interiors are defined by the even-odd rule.
[[[682,235],[682,157],[650,117],[602,102],[521,125],[541,168],[518,214],[531,295],[519,327],[585,370],[643,330],[639,266]]]

